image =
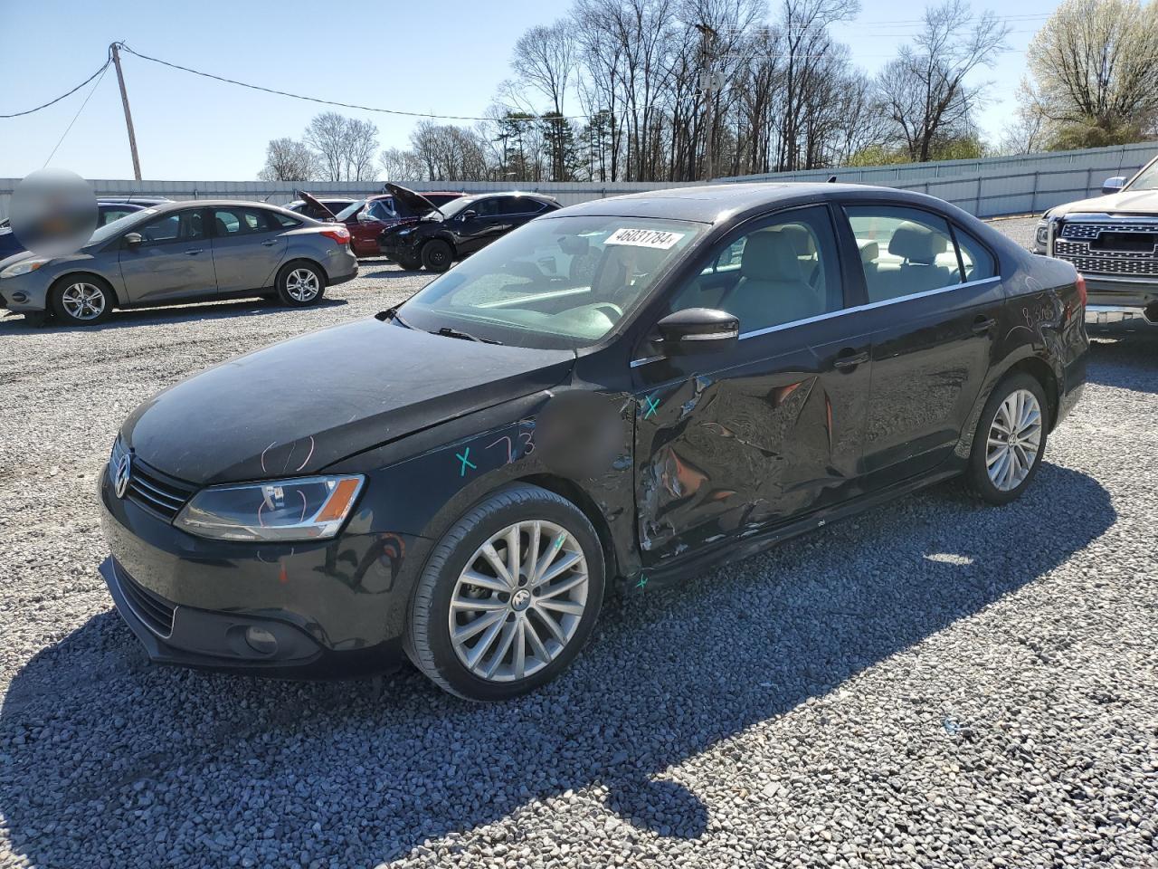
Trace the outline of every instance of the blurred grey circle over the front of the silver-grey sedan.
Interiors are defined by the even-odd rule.
[[[67,169],[31,173],[16,184],[9,207],[16,241],[41,256],[74,254],[96,229],[96,196]]]

